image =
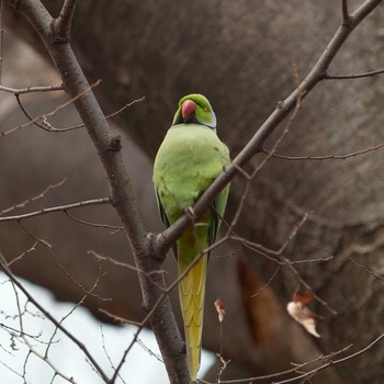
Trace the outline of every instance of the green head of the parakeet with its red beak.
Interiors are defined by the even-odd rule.
[[[179,101],[172,125],[182,123],[201,124],[216,131],[216,116],[208,100],[199,93],[183,97]]]

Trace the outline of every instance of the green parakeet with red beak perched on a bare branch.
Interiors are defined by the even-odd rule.
[[[202,94],[182,98],[154,166],[154,184],[166,227],[193,206],[229,161],[228,148],[216,135],[216,116],[207,99]],[[200,368],[208,261],[208,253],[202,251],[215,241],[228,192],[229,185],[215,199],[214,210],[210,208],[173,248],[179,275],[200,257],[179,283],[188,368],[193,382]]]

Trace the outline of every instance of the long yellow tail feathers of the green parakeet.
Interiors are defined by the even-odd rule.
[[[179,274],[188,264],[178,257]],[[204,255],[179,283],[180,305],[184,320],[187,361],[194,382],[200,368],[207,256]]]

